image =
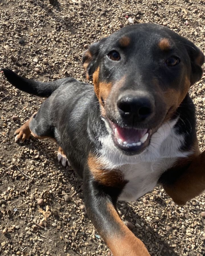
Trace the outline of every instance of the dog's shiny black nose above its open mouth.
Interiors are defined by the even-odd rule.
[[[124,119],[134,119],[141,122],[153,113],[153,102],[148,96],[122,96],[117,102],[120,115]]]

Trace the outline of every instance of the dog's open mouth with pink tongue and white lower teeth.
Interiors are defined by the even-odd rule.
[[[150,129],[135,129],[120,127],[113,122],[109,122],[112,128],[114,143],[128,151],[139,151],[149,143]]]

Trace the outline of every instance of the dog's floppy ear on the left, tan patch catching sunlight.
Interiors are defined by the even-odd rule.
[[[106,38],[101,39],[99,42],[91,44],[89,49],[83,53],[82,63],[83,68],[86,72],[86,77],[88,80],[93,79],[93,73],[97,68],[97,59],[99,55],[100,48],[103,46]]]

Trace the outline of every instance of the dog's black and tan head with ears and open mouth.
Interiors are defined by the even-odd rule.
[[[139,154],[151,135],[171,119],[192,84],[202,76],[204,55],[163,26],[127,26],[83,54],[87,79],[115,145]]]

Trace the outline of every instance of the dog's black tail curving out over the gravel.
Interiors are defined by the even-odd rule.
[[[11,69],[3,68],[3,69],[0,69],[0,71],[3,71],[8,81],[19,90],[28,92],[30,94],[34,94],[40,97],[50,96],[52,92],[54,92],[66,80],[66,79],[58,79],[52,82],[39,82],[39,81],[34,81],[32,79],[21,77],[16,73],[14,73]]]

